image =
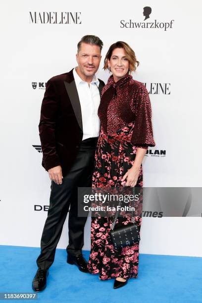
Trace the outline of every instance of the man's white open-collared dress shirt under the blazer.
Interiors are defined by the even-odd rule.
[[[83,139],[98,137],[100,134],[100,119],[98,116],[98,107],[101,97],[99,92],[99,80],[94,75],[90,83],[83,81],[73,69],[74,80],[81,104]]]

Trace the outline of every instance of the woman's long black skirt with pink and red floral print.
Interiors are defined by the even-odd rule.
[[[101,128],[95,155],[95,170],[93,188],[122,187],[126,181],[121,181],[124,174],[131,168],[137,147],[130,143],[133,123],[118,130],[114,135],[106,135]],[[142,165],[136,187],[143,186]],[[100,280],[116,277],[125,279],[138,275],[139,242],[132,246],[115,250],[109,235],[112,217],[92,217],[91,223],[91,253],[88,269],[92,274],[100,273]],[[135,216],[135,224],[141,227],[141,216]],[[131,217],[117,218],[117,226],[131,224]]]

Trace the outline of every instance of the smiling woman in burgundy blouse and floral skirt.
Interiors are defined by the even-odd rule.
[[[104,86],[98,114],[101,133],[96,151],[93,188],[142,187],[142,161],[149,146],[155,146],[152,133],[151,102],[143,83],[130,75],[139,62],[125,42],[110,46],[104,69],[112,75]],[[114,288],[137,278],[139,242],[115,250],[110,239],[113,218],[92,217],[91,253],[88,269],[100,274],[100,280],[115,278]],[[117,226],[131,223],[131,217],[117,218]],[[141,215],[135,216],[139,230]]]

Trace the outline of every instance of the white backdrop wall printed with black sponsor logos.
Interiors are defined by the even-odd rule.
[[[1,6],[0,245],[39,247],[50,179],[41,166],[38,124],[47,81],[76,66],[86,34],[103,41],[103,58],[127,42],[152,103],[156,146],[145,156],[144,186],[201,187],[201,2],[14,1]],[[202,218],[143,217],[141,253],[202,256]],[[68,244],[64,224],[58,248]],[[90,218],[84,249],[90,249]]]

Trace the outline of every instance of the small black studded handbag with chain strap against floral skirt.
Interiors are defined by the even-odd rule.
[[[140,232],[137,224],[135,224],[135,217],[133,216],[133,213],[134,212],[132,212],[131,214],[133,224],[127,224],[125,226],[117,227],[114,229],[116,219],[119,214],[119,211],[116,211],[115,218],[113,223],[111,224],[111,230],[109,232],[111,236],[111,241],[116,250],[126,246],[131,246],[135,242],[140,241]]]

